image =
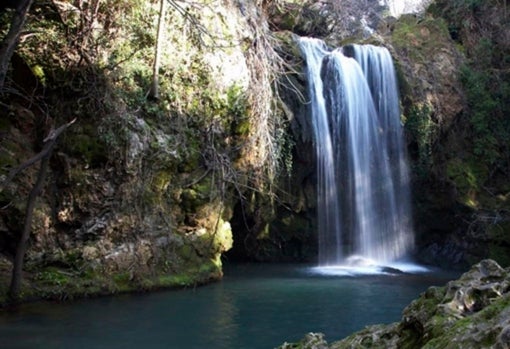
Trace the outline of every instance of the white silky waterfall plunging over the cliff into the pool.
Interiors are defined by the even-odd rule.
[[[414,244],[395,71],[386,48],[302,38],[317,156],[319,264],[390,262]]]

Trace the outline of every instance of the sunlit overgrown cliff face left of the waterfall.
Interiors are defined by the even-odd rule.
[[[34,5],[27,30],[38,34],[20,44],[0,105],[2,182],[52,127],[77,118],[36,203],[27,298],[220,278],[236,203],[254,216],[281,161],[285,125],[271,114],[279,61],[262,2],[174,4],[164,38],[158,2],[96,5]],[[2,293],[37,171],[0,182]]]

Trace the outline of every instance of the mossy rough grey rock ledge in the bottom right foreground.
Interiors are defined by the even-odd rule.
[[[430,287],[408,305],[402,320],[368,326],[328,344],[321,333],[279,349],[510,348],[510,268],[493,260],[476,264],[458,280]]]

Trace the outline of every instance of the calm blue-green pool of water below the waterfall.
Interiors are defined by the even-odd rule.
[[[457,275],[328,276],[296,265],[235,265],[222,282],[179,291],[0,312],[0,348],[263,349],[323,332],[328,342],[398,321],[431,285]]]

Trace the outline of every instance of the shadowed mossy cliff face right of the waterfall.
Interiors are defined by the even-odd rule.
[[[402,74],[417,252],[426,263],[509,263],[507,19],[497,1],[436,1],[382,28]]]

